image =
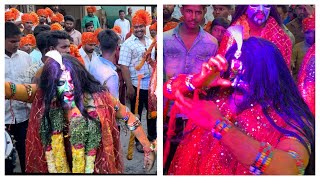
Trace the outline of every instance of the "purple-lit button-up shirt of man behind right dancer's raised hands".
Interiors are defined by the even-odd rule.
[[[209,58],[215,56],[217,53],[217,39],[205,32],[202,27],[200,27],[197,38],[188,50],[179,35],[181,25],[182,23],[163,34],[164,78],[171,78],[179,74],[200,73],[202,63],[208,62]],[[164,79],[164,82],[167,80],[168,79]],[[167,100],[168,99],[164,98],[163,104],[165,104]],[[172,103],[170,106],[172,106]],[[168,115],[170,115],[170,112],[168,112]],[[187,119],[184,114],[177,114],[177,117]]]

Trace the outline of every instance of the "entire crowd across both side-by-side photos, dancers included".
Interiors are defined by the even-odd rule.
[[[86,11],[84,32],[58,6],[5,12],[6,174],[123,173],[121,130],[153,167],[156,10]],[[314,175],[315,49],[314,5],[163,5],[164,174]]]

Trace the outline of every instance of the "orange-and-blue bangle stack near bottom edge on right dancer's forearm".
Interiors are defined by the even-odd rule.
[[[259,152],[254,163],[250,166],[250,173],[255,175],[263,174],[266,168],[270,165],[273,157],[273,148],[269,143],[262,142],[260,144]]]

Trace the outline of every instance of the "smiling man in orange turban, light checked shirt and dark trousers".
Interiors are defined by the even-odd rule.
[[[136,92],[138,88],[138,75],[143,75],[140,82],[139,107],[138,114],[142,117],[142,109],[145,106],[148,109],[148,89],[151,76],[151,66],[144,63],[142,68],[137,71],[135,66],[140,63],[146,50],[152,43],[152,40],[145,35],[146,26],[150,25],[151,16],[145,10],[138,10],[132,17],[133,35],[131,35],[120,48],[119,64],[122,75],[127,86],[127,97],[130,100],[131,112],[135,110]],[[152,54],[154,58],[154,53]],[[147,113],[148,114],[148,113]],[[157,137],[156,120],[147,119],[148,139],[153,141]],[[136,148],[138,152],[143,152],[141,144],[136,139]]]

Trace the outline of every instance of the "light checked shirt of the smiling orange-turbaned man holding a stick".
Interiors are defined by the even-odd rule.
[[[138,86],[138,75],[142,74],[143,78],[141,80],[140,88],[148,90],[152,70],[151,66],[145,62],[139,71],[135,69],[135,67],[141,62],[144,52],[147,51],[148,47],[152,43],[152,40],[147,36],[145,36],[145,41],[146,46],[134,35],[128,38],[121,45],[118,63],[129,67],[132,85],[135,87]],[[152,52],[151,57],[154,59],[154,52]]]

